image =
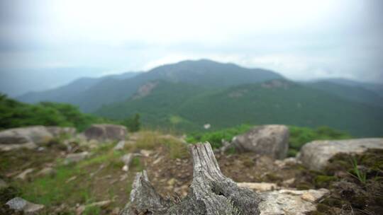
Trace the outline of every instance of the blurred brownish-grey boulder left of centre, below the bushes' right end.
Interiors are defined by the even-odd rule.
[[[123,140],[127,134],[126,127],[118,124],[92,124],[84,132],[87,139],[98,141]]]

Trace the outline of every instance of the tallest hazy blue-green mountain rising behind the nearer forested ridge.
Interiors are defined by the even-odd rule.
[[[130,98],[140,86],[149,81],[164,80],[172,83],[190,83],[207,88],[222,88],[243,83],[260,83],[272,79],[283,79],[283,77],[265,69],[247,69],[235,64],[201,59],[158,66],[131,79],[103,79],[69,97],[56,96],[55,101],[78,105],[85,112],[93,112],[102,105]],[[53,94],[60,95],[56,90],[53,90],[55,92]],[[52,100],[52,97],[36,93],[34,96],[23,95],[18,99],[35,103],[41,100]]]

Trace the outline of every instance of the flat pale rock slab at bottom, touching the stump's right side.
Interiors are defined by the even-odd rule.
[[[261,215],[304,215],[316,210],[316,202],[328,194],[320,190],[278,190],[260,193],[264,201],[260,202]]]

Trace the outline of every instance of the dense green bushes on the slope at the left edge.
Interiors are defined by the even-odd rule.
[[[20,103],[0,94],[0,129],[25,127],[30,125],[76,127],[82,131],[93,123],[103,123],[101,117],[84,114],[73,105],[62,103]]]

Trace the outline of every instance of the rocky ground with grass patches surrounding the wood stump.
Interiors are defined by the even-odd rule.
[[[157,132],[130,134],[121,142],[65,136],[35,149],[0,153],[0,214],[23,214],[6,205],[14,197],[28,200],[31,209],[43,206],[38,214],[118,214],[141,170],[174,202],[186,196],[193,177],[182,139]],[[382,149],[339,153],[323,170],[309,170],[296,158],[251,152],[217,151],[216,159],[223,175],[239,186],[300,210],[274,214],[383,214]]]

